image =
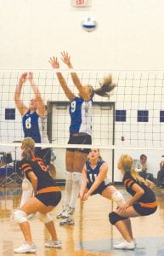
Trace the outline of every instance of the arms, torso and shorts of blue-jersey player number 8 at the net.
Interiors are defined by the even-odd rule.
[[[29,79],[35,97],[31,99],[29,108],[20,98],[22,86]],[[47,110],[40,91],[33,79],[33,73],[22,73],[14,93],[14,101],[22,116],[22,125],[25,137],[31,137],[35,143],[49,143],[47,135]],[[50,148],[36,148],[36,155],[49,165],[51,158]]]

